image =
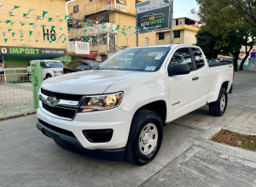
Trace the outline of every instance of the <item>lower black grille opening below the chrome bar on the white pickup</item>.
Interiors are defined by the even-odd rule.
[[[65,109],[65,108],[60,108],[60,107],[52,107],[52,106],[49,106],[49,105],[46,105],[44,103],[42,103],[43,105],[43,108],[46,110],[46,111],[49,111],[50,113],[56,115],[56,116],[61,116],[61,117],[65,117],[65,118],[68,118],[68,119],[73,119],[75,114],[76,114],[76,111],[73,110],[73,109]]]

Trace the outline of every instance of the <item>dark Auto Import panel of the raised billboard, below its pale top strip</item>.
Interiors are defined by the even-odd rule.
[[[137,14],[137,27],[143,28],[141,32],[169,29],[169,7]]]

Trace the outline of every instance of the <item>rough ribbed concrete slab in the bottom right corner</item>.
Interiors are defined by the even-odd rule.
[[[141,186],[255,186],[256,163],[193,146]]]

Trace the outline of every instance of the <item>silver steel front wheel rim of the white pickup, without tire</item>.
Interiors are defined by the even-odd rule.
[[[146,156],[149,155],[157,145],[158,130],[153,123],[148,123],[139,136],[139,149],[140,152]]]

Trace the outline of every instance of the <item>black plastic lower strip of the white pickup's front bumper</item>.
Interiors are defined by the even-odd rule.
[[[69,150],[80,155],[90,156],[104,161],[123,161],[124,159],[125,148],[113,150],[88,150],[79,143],[78,139],[63,133],[58,133],[49,127],[44,126],[41,122],[38,122],[37,127],[45,136],[54,139],[55,143],[64,150]]]

